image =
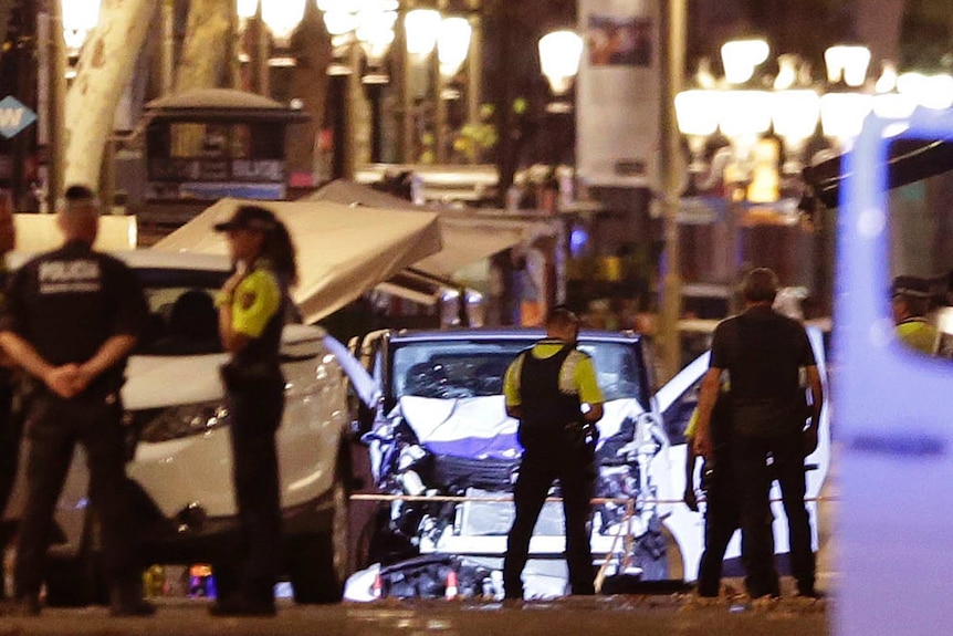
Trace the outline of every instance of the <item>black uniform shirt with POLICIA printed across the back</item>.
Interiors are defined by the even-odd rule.
[[[0,331],[15,333],[53,365],[82,364],[109,337],[139,335],[147,313],[142,288],[125,263],[74,241],[13,273]],[[125,361],[95,385],[115,390],[124,367]]]

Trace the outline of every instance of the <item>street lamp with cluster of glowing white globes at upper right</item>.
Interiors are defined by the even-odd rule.
[[[729,283],[739,273],[737,215],[745,212],[746,221],[751,216],[740,204],[767,204],[766,210],[796,227],[807,140],[815,137],[820,123],[834,147],[849,147],[873,103],[867,91],[870,54],[866,48],[832,46],[827,51],[826,90],[810,80],[798,58],[789,54],[778,59],[773,88],[764,88],[764,82],[753,80],[768,52],[767,43],[760,40],[726,43],[722,46],[725,76],[715,80],[700,72],[700,86],[680,92],[673,101],[678,127],[689,142],[692,185],[709,189],[718,184],[725,189]],[[886,100],[884,105],[896,104],[892,96]],[[730,146],[718,150],[709,167],[704,153],[715,132],[726,137]],[[783,143],[784,161],[777,142],[766,137],[769,132]],[[705,170],[711,175],[702,183]]]

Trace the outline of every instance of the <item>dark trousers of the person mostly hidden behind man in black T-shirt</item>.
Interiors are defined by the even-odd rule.
[[[730,458],[724,458],[729,461]],[[735,530],[741,528],[737,484],[727,467],[721,463],[705,491],[704,552],[699,563],[699,596],[718,596],[722,562]],[[773,551],[772,551],[773,552]]]

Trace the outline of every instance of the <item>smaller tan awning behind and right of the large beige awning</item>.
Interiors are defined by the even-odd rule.
[[[302,200],[336,201],[354,207],[425,209],[400,197],[341,179],[327,184]],[[443,249],[413,267],[441,278],[450,278],[460,269],[521,242],[530,243],[538,236],[554,233],[551,223],[515,217],[500,210],[426,209],[432,209],[440,215],[438,222]]]

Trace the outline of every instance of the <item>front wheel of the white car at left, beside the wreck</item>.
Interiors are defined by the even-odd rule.
[[[349,505],[344,480],[332,487],[331,529],[291,540],[291,585],[301,604],[337,603],[348,575],[347,534]]]

